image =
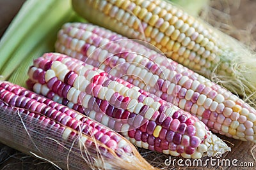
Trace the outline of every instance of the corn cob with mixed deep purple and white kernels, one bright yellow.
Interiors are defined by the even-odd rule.
[[[230,150],[188,112],[80,62],[45,53],[34,60],[27,85],[120,132],[139,147],[193,159]]]

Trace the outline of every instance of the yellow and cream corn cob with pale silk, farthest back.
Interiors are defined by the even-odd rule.
[[[147,41],[234,94],[256,99],[255,53],[176,6],[163,0],[73,0],[72,4],[89,22]]]

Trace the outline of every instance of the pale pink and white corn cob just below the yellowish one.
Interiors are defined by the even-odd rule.
[[[239,97],[177,62],[107,29],[68,23],[56,51],[122,77],[202,120],[211,131],[255,140],[256,111]]]

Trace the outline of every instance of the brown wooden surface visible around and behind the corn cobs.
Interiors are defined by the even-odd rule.
[[[0,0],[0,37],[10,24],[12,18],[19,11],[24,0]],[[202,13],[205,18],[222,31],[240,39],[244,43],[256,49],[256,0],[214,0],[210,3],[211,7]],[[254,167],[218,167],[211,165],[204,167],[179,167],[176,169],[256,169],[256,146],[254,143],[241,142],[235,139],[220,136],[220,138],[228,141],[232,152],[225,153],[221,159],[237,159],[240,162],[253,162]],[[168,156],[159,153],[148,153],[146,150],[140,150],[141,154],[147,160],[154,160],[152,164],[157,166],[161,162],[163,169],[172,169],[172,166],[164,167],[163,162]],[[156,158],[158,157],[158,158]],[[175,159],[175,157],[172,157]],[[205,158],[207,159],[207,158]],[[41,160],[33,159],[20,152],[13,150],[7,146],[0,144],[0,169],[55,169],[50,164]]]

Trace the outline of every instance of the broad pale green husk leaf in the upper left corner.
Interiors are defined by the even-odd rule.
[[[52,31],[57,32],[74,16],[69,0],[29,0],[25,3],[1,39],[0,74],[3,80],[7,80],[43,38],[49,38]]]

